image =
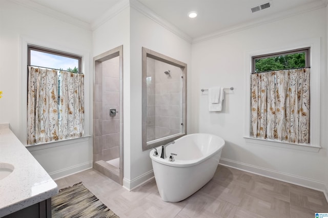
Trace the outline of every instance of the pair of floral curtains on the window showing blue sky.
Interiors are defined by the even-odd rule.
[[[29,67],[27,101],[28,144],[84,136],[83,74]]]

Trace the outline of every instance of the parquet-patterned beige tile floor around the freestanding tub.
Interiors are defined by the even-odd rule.
[[[214,178],[191,197],[163,202],[155,179],[128,191],[89,169],[55,181],[59,188],[83,184],[119,217],[295,217],[327,212],[323,192],[219,165]]]

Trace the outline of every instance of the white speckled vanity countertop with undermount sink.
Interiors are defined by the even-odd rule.
[[[0,180],[0,217],[51,198],[57,184],[11,132],[9,124],[0,124],[0,163],[14,170]]]

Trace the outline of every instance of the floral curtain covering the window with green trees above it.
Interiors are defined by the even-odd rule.
[[[310,69],[251,75],[251,136],[310,143]]]

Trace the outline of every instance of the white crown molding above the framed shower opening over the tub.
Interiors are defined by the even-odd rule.
[[[147,8],[145,5],[141,4],[139,1],[137,1],[137,0],[131,0],[130,1],[130,7],[133,8],[133,9],[135,9],[135,10],[137,10],[137,11],[139,11],[141,14],[144,14],[145,16],[147,16],[148,18],[152,19],[153,21],[155,21],[160,26],[168,29],[169,31],[171,31],[175,35],[179,36],[183,40],[186,40],[189,43],[192,42],[192,37],[190,37],[186,33],[182,32],[176,26],[174,26],[173,24],[169,23],[167,20],[163,19],[162,17],[160,17],[156,13],[154,13],[152,10],[150,10],[149,8]]]

